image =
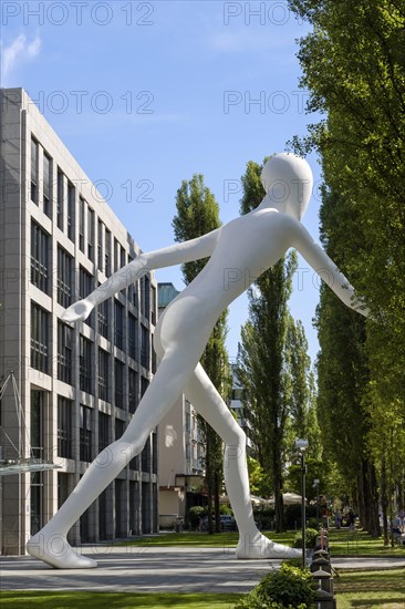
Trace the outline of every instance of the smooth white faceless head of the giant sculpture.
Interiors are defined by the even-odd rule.
[[[261,183],[266,190],[262,206],[301,220],[313,185],[312,171],[304,158],[290,153],[276,154],[264,163]]]

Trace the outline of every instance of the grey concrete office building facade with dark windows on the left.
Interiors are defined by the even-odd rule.
[[[2,477],[1,553],[23,554],[146,391],[157,289],[149,273],[85,322],[61,321],[139,247],[27,93],[2,90],[0,103],[0,379],[13,371],[23,413],[10,384],[0,445],[3,458],[60,466]],[[157,530],[157,451],[153,433],[71,529],[73,545]]]

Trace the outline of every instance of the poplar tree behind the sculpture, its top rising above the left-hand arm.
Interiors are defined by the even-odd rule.
[[[193,179],[183,180],[176,196],[177,215],[173,219],[176,241],[187,241],[200,237],[221,225],[219,206],[209,188],[204,184],[204,176],[195,174]],[[207,259],[186,262],[181,266],[184,281],[190,283],[202,270]],[[198,328],[196,328],[198,332]],[[229,395],[230,370],[228,353],[225,347],[227,334],[227,311],[217,321],[201,358],[201,364],[211,382],[225,400]],[[206,484],[208,495],[208,531],[212,530],[212,500],[216,531],[220,533],[219,496],[222,489],[222,441],[215,431],[199,417],[206,440]]]

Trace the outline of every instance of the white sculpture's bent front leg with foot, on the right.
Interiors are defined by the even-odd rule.
[[[198,364],[187,383],[186,395],[225,442],[225,484],[238,523],[238,558],[295,558],[300,550],[274,544],[262,535],[253,519],[246,461],[246,435],[228,406]]]

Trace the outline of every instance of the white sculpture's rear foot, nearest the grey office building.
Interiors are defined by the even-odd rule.
[[[27,551],[56,569],[93,569],[95,560],[76,554],[64,535],[37,533],[27,544]]]

